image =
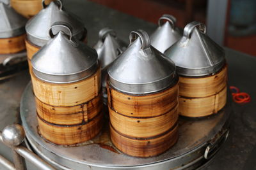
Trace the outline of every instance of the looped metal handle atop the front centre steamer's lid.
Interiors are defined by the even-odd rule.
[[[139,29],[137,31],[132,31],[130,33],[130,43],[135,41],[135,39],[137,38],[140,38],[141,45],[142,45],[141,48],[143,50],[150,47],[150,39],[146,31]]]

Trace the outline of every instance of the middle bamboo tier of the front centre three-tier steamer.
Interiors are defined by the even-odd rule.
[[[177,123],[178,104],[172,110],[157,117],[127,117],[109,108],[109,118],[113,128],[132,138],[151,138],[168,131]]]

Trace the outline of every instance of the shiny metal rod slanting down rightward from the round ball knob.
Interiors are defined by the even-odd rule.
[[[40,169],[44,170],[52,170],[55,169],[50,164],[45,162],[44,160],[40,159],[35,153],[30,152],[28,148],[25,148],[24,146],[19,146],[15,148],[15,151],[19,153],[22,157],[25,159],[28,159],[32,164],[39,167]]]

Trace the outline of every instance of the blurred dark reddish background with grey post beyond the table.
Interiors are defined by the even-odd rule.
[[[256,56],[256,0],[90,0],[157,24],[164,13],[177,26],[198,20],[218,44]]]

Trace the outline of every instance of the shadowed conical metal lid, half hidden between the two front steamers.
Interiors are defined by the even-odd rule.
[[[124,41],[116,37],[113,29],[104,28],[99,32],[99,41],[93,47],[98,53],[102,69],[108,66],[113,60],[124,52],[126,48]]]

